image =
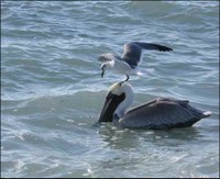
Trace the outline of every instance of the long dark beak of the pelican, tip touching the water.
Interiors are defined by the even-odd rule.
[[[113,94],[111,92],[108,93],[103,108],[101,110],[101,114],[98,119],[98,122],[112,122],[113,113],[118,105],[124,100],[125,94],[121,96]]]

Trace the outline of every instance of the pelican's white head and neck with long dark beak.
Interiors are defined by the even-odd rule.
[[[132,87],[127,80],[113,83],[107,92],[98,122],[112,122],[113,115],[123,116],[132,100]]]

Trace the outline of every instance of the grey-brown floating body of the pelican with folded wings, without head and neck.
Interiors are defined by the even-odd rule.
[[[161,98],[130,110],[120,119],[120,125],[122,127],[166,130],[191,126],[209,115],[210,113],[190,107],[188,101]]]

